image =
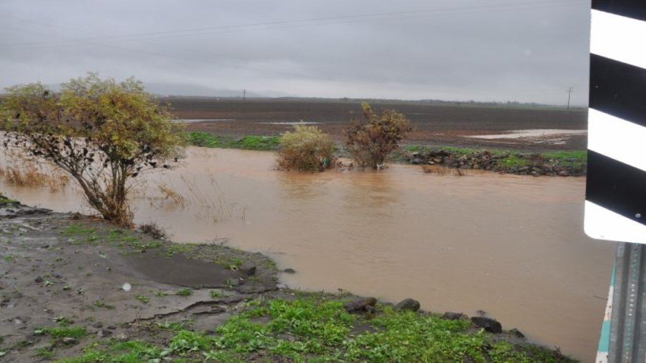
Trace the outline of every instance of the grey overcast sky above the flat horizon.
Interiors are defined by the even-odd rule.
[[[2,0],[0,87],[83,76],[306,97],[587,104],[589,1]]]

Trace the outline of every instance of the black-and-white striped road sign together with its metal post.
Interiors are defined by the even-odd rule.
[[[618,242],[597,362],[646,362],[646,1],[592,0],[585,232]],[[607,336],[606,336],[607,334]]]

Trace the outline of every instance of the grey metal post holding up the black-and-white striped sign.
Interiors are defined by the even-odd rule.
[[[618,243],[609,363],[646,362],[646,245]]]

